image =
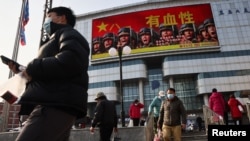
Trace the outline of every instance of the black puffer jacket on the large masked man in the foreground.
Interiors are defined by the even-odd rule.
[[[89,44],[71,26],[60,26],[27,65],[32,77],[19,104],[20,115],[35,105],[60,108],[83,117],[87,112]]]

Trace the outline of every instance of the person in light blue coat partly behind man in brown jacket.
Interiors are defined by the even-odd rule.
[[[155,96],[148,107],[148,116],[153,115],[154,118],[154,133],[157,133],[157,122],[159,119],[160,108],[162,101],[165,100],[165,92],[159,91],[158,96]]]

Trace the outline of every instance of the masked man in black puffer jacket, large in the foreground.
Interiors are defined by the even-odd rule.
[[[29,115],[16,141],[68,141],[76,119],[86,116],[89,43],[74,29],[66,7],[47,12],[43,29],[50,36],[22,75],[28,80],[19,115]],[[13,63],[9,68],[17,70]]]

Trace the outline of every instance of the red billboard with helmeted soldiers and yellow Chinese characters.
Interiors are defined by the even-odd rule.
[[[136,11],[93,19],[92,60],[111,47],[130,46],[133,55],[218,46],[210,4]]]

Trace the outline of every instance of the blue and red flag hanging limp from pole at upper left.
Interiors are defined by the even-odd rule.
[[[21,28],[20,28],[20,42],[21,45],[26,45],[26,39],[25,39],[25,25],[29,21],[29,0],[25,1],[23,10],[22,10],[22,22],[21,22]]]

